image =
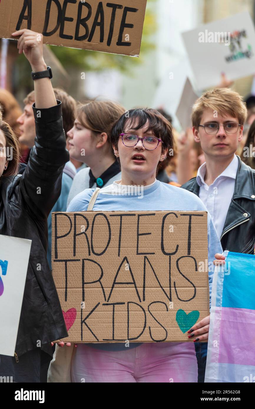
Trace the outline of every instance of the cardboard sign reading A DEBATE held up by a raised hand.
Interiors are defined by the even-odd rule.
[[[1,0],[0,37],[23,28],[44,42],[138,56],[147,0]]]

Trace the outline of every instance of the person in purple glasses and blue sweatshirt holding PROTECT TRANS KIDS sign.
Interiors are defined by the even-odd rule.
[[[129,117],[122,115],[109,132],[115,156],[120,162],[122,178],[112,185],[86,189],[77,195],[68,211],[133,211],[171,210],[205,211],[201,200],[188,191],[156,180],[160,161],[172,147],[172,127],[156,110],[134,109]],[[134,185],[143,189],[141,199]],[[131,193],[130,193],[131,192]],[[208,213],[208,260],[217,254],[221,259],[221,244]],[[212,274],[209,275],[211,292]],[[210,316],[192,328],[194,341],[208,338]],[[70,345],[67,344],[67,346]],[[154,342],[111,344],[78,344],[69,359],[68,378],[54,379],[58,371],[58,353],[50,367],[50,382],[197,382],[197,361],[193,342]],[[62,354],[63,356],[63,354]],[[71,369],[71,370],[70,370]],[[62,372],[59,372],[59,374]],[[72,375],[71,375],[72,373]],[[69,379],[69,380],[67,380]],[[71,380],[72,379],[72,380]]]

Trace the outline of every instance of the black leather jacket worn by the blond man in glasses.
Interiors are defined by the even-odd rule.
[[[223,250],[254,254],[255,245],[255,170],[237,156],[239,166],[235,180],[234,194],[228,208],[221,234]],[[199,196],[196,178],[182,185],[183,189]],[[224,203],[222,203],[224,206]]]

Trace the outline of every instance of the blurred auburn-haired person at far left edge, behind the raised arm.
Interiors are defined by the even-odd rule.
[[[17,119],[22,114],[22,110],[18,101],[11,92],[0,88],[0,105],[3,107],[3,120],[11,126],[15,135],[19,137],[20,131]],[[27,163],[29,151],[29,147],[20,142],[20,162]]]

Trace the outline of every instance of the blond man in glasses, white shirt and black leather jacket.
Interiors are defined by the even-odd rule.
[[[192,130],[206,162],[199,167],[196,178],[182,187],[199,196],[207,207],[223,250],[253,254],[255,171],[235,155],[246,116],[242,98],[228,88],[205,92],[197,99]],[[197,344],[196,353],[199,382],[203,382],[207,344]]]

